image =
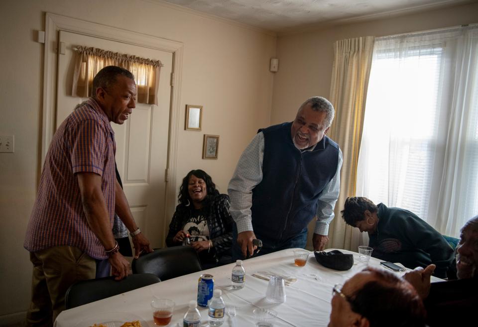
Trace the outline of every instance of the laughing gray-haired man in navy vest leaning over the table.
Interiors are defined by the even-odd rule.
[[[305,248],[314,218],[314,249],[324,249],[342,167],[339,145],[325,135],[333,119],[327,99],[309,98],[294,121],[259,129],[244,150],[228,188],[234,260],[253,254],[255,238],[259,254]]]

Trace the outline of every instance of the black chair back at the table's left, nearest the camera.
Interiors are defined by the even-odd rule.
[[[129,275],[121,280],[115,280],[114,276],[82,280],[70,286],[66,291],[65,307],[66,309],[79,307],[160,281],[153,274]]]

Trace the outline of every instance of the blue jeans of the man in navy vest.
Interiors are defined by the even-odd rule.
[[[302,229],[297,235],[284,240],[267,239],[261,237],[259,233],[254,232],[254,234],[258,239],[262,241],[262,248],[260,249],[260,252],[258,254],[255,254],[254,252],[254,257],[284,249],[305,248],[305,245],[307,244],[307,227]],[[233,223],[233,262],[238,259],[246,259],[242,257],[242,253],[240,251],[240,247],[237,240],[238,227],[236,223]]]

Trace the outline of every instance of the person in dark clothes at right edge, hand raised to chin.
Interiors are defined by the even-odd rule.
[[[418,267],[403,278],[410,282],[424,299],[427,325],[471,326],[478,308],[478,216],[468,220],[461,229],[456,248],[458,280],[431,283],[435,269],[431,264]]]

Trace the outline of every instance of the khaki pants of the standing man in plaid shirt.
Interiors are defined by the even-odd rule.
[[[65,309],[68,288],[77,281],[95,278],[95,259],[77,247],[63,245],[30,252],[30,261],[33,276],[27,326],[53,326]]]

